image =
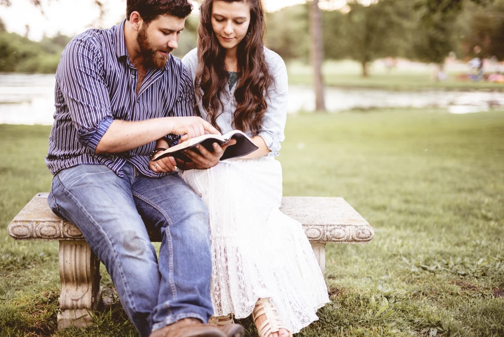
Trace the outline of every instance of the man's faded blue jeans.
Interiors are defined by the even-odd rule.
[[[205,204],[176,174],[148,178],[129,163],[122,170],[122,178],[105,165],[60,171],[50,208],[82,231],[142,336],[182,318],[206,323],[213,309]],[[161,233],[159,262],[146,227]]]

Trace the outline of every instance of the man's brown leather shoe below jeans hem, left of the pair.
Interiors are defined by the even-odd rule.
[[[196,318],[184,318],[173,324],[155,330],[150,337],[227,337],[224,332]]]

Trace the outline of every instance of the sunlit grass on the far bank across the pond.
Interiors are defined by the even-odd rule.
[[[311,85],[312,69],[309,65],[292,62],[287,65],[289,84]],[[342,88],[369,88],[393,91],[421,90],[489,90],[504,91],[504,84],[486,81],[471,82],[456,80],[464,71],[448,67],[449,78],[445,82],[432,80],[432,72],[426,69],[398,68],[387,72],[376,63],[370,67],[369,77],[363,78],[359,64],[353,61],[327,61],[323,66],[324,82],[328,86]]]

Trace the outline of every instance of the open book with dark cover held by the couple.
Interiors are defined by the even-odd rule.
[[[192,151],[196,153],[200,153],[195,146],[198,144],[201,144],[204,146],[207,150],[210,152],[213,152],[213,143],[217,143],[219,145],[224,145],[227,142],[229,142],[231,139],[236,139],[236,144],[228,146],[224,150],[224,154],[222,155],[220,160],[224,159],[229,159],[229,158],[236,158],[236,157],[242,157],[244,155],[247,155],[251,152],[254,152],[258,149],[258,147],[252,142],[252,140],[245,135],[243,132],[239,130],[233,130],[229,131],[226,134],[223,135],[203,135],[195,138],[191,138],[186,140],[185,142],[182,142],[180,144],[177,144],[175,146],[172,146],[164,151],[159,152],[154,161],[159,160],[164,157],[175,157],[179,158],[183,161],[193,161],[189,157],[187,157],[185,154],[183,154],[182,151],[191,149]]]

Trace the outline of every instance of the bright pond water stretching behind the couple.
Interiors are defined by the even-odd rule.
[[[327,88],[325,95],[326,107],[333,112],[380,107],[441,107],[453,114],[467,114],[504,108],[502,92]],[[289,113],[312,111],[314,101],[310,87],[289,87]],[[0,123],[51,125],[53,104],[54,75],[0,74]]]

